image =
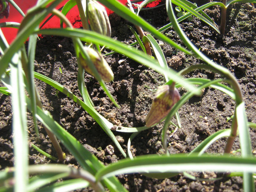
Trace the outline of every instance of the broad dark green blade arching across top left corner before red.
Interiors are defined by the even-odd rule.
[[[50,0],[44,1],[38,6],[35,6],[28,10],[27,15],[22,21],[23,28],[19,30],[19,33],[17,34],[14,41],[12,41],[10,48],[5,51],[5,54],[1,58],[0,77],[5,72],[5,69],[8,67],[8,64],[10,63],[12,56],[21,48],[21,46],[24,44],[29,35],[33,33],[33,31],[39,25],[39,23],[45,18],[45,16],[47,16],[53,10],[53,8],[55,8],[61,2],[61,0],[53,1],[53,3],[49,5],[49,7],[43,9],[42,11],[43,7],[41,6],[46,6],[47,3],[50,2]],[[0,46],[2,45],[0,44]]]

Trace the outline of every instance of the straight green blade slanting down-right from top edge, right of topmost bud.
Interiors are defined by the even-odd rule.
[[[123,17],[124,19],[129,20],[129,22],[133,23],[134,25],[138,25],[142,27],[144,30],[150,32],[155,37],[169,43],[174,48],[181,50],[182,52],[185,52],[187,54],[190,54],[190,52],[188,52],[187,49],[182,48],[180,45],[176,44],[170,38],[166,37],[159,31],[157,31],[157,29],[155,29],[148,22],[146,22],[136,14],[133,14],[127,7],[125,7],[119,1],[116,1],[116,0],[98,0],[98,1],[103,5],[105,5],[106,7],[108,7],[110,10],[114,11],[116,14]]]

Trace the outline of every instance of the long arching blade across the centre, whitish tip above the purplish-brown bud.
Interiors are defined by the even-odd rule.
[[[99,44],[99,45],[105,45],[109,49],[112,49],[118,53],[124,54],[127,57],[130,57],[131,59],[146,65],[147,67],[153,68],[155,71],[164,74],[166,72],[166,68],[162,68],[159,66],[157,61],[151,59],[148,55],[144,54],[143,52],[127,47],[127,45],[115,41],[112,38],[103,36],[103,35],[98,35],[98,33],[95,33],[93,31],[88,31],[88,30],[81,30],[81,29],[43,29],[37,31],[37,33],[40,34],[46,34],[46,35],[60,35],[64,37],[78,37],[82,41],[87,41],[87,42],[92,42],[94,44]],[[168,77],[170,79],[175,79],[176,82],[179,82],[184,86],[186,89],[190,91],[196,91],[194,86],[191,86],[189,83],[186,82],[186,80],[182,79],[180,76],[176,75],[176,71],[173,69],[170,69],[166,72]],[[196,94],[200,94],[197,92]]]

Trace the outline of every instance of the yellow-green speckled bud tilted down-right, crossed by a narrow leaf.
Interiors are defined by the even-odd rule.
[[[111,82],[114,79],[114,74],[104,57],[92,48],[84,47],[84,49],[89,55],[103,81]],[[79,62],[85,71],[87,71],[90,75],[95,76],[89,65],[86,63],[86,60],[82,57],[82,54],[79,54]]]

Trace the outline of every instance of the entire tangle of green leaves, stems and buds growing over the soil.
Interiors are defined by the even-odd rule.
[[[61,0],[38,0],[37,4],[27,11],[27,14],[25,15],[15,4],[15,1],[8,0],[8,3],[12,4],[20,12],[20,14],[24,16],[24,19],[20,24],[12,22],[0,24],[0,27],[16,26],[19,28],[17,37],[10,45],[7,43],[0,28],[0,77],[1,82],[5,85],[5,87],[0,89],[0,92],[10,95],[12,98],[12,127],[14,132],[13,142],[15,156],[14,167],[6,168],[0,172],[0,191],[72,191],[91,186],[95,189],[95,191],[108,190],[120,192],[127,190],[115,177],[118,174],[142,173],[150,177],[164,178],[178,173],[184,173],[188,176],[186,171],[204,170],[215,172],[232,171],[230,176],[234,174],[243,176],[244,191],[255,191],[254,173],[256,172],[256,159],[252,156],[252,147],[248,128],[249,125],[251,127],[255,127],[255,124],[249,124],[246,118],[240,85],[230,71],[208,59],[208,57],[200,52],[200,50],[198,50],[187,38],[178,24],[178,22],[193,15],[207,23],[214,30],[220,32],[213,20],[203,12],[204,9],[213,5],[219,5],[221,8],[227,9],[227,7],[233,3],[255,1],[230,0],[227,3],[226,1],[225,3],[214,1],[202,5],[201,7],[197,7],[195,4],[187,0],[166,0],[166,10],[170,23],[158,30],[139,16],[139,10],[142,10],[144,5],[152,1],[154,0],[144,0],[140,4],[141,7],[139,7],[138,11],[135,13],[135,11],[132,10],[132,2],[130,0],[127,1],[127,6],[129,8],[116,0],[69,0],[61,12],[55,9],[55,7],[61,3]],[[1,2],[7,1],[1,0]],[[135,30],[131,29],[135,34],[137,42],[129,46],[113,40],[111,37],[109,37],[111,31],[108,25],[108,18],[106,18],[106,15],[104,15],[104,9],[100,7],[99,10],[99,7],[97,6],[93,8],[90,4],[90,10],[95,9],[95,11],[92,11],[94,15],[89,16],[90,13],[87,10],[87,5],[89,3],[94,4],[98,2],[105,5],[110,10],[113,10],[121,17],[129,20],[129,22],[137,26],[137,30],[140,30],[141,32],[147,31],[150,34],[140,35],[142,38],[140,39]],[[176,14],[173,10],[172,4],[175,4],[177,7],[180,7],[183,10],[182,16],[178,19],[176,19]],[[68,11],[75,5],[77,5],[79,8],[79,14],[84,29],[74,29],[69,23],[68,19],[65,17]],[[39,29],[39,24],[47,17],[48,14],[58,16],[61,20],[61,26],[63,26],[63,23],[65,23],[67,27],[61,27],[60,29]],[[186,48],[178,45],[176,42],[166,37],[166,35],[162,33],[170,27],[173,27]],[[91,29],[99,30],[93,31]],[[103,31],[102,35],[99,35],[98,33],[101,33],[101,31]],[[53,79],[35,72],[34,58],[37,44],[37,34],[58,35],[72,39],[78,59],[77,83],[83,100],[79,99],[71,91],[67,90],[64,86],[57,83]],[[24,42],[28,37],[29,42],[26,50]],[[204,64],[191,65],[177,73],[167,66],[164,54],[155,39],[160,39],[161,41],[172,45],[175,49],[202,60]],[[133,48],[133,46],[138,43],[142,51]],[[155,58],[152,58],[147,52],[148,45],[152,48]],[[156,72],[159,72],[165,77],[166,85],[169,86],[167,86],[167,88],[166,86],[164,87],[167,90],[170,89],[171,91],[167,92],[168,97],[165,97],[166,95],[162,94],[161,90],[157,92],[159,94],[161,93],[161,97],[156,95],[156,98],[160,99],[160,101],[158,100],[157,102],[161,102],[161,99],[165,99],[165,102],[167,102],[169,106],[168,112],[163,112],[164,116],[159,119],[161,121],[165,120],[162,129],[162,144],[166,151],[165,155],[142,155],[140,157],[132,157],[130,151],[131,142],[136,135],[145,129],[149,129],[156,123],[159,123],[159,120],[154,121],[154,119],[151,119],[154,116],[148,117],[148,121],[150,122],[148,127],[144,126],[128,128],[118,126],[116,129],[114,129],[115,125],[101,116],[94,109],[94,104],[91,101],[90,95],[84,84],[85,70],[87,72],[89,71],[90,74],[93,74],[114,105],[119,107],[118,103],[110,94],[110,91],[104,82],[104,80],[113,80],[113,73],[109,66],[107,66],[105,63],[105,60],[100,53],[103,46],[107,47],[109,50],[112,50],[112,52],[109,52],[108,54],[113,54],[114,52],[123,54],[124,56],[127,56],[138,63],[145,65],[146,67],[154,69]],[[184,79],[182,77],[188,72],[196,69],[207,69],[213,71],[220,74],[222,78],[209,80],[203,78]],[[103,77],[102,73],[104,72],[109,72],[110,75],[108,75],[108,77]],[[54,121],[50,113],[43,108],[40,101],[40,95],[38,94],[37,87],[34,83],[34,78],[37,78],[54,87],[56,90],[67,95],[67,97],[78,103],[78,105],[86,110],[86,112],[94,118],[94,120],[100,125],[106,134],[113,140],[118,150],[124,156],[124,159],[111,163],[109,166],[104,166],[93,154],[87,151],[82,144],[71,135],[71,133],[68,133],[63,127],[61,127],[60,124]],[[228,83],[229,86],[226,86],[224,82]],[[177,94],[177,89],[175,87],[184,87],[187,89],[187,93],[181,98],[172,97],[173,93]],[[201,90],[206,87],[218,89],[229,95],[236,102],[234,116],[232,117],[232,127],[230,129],[223,129],[215,132],[213,135],[209,136],[202,143],[200,143],[190,154],[170,155],[167,150],[166,138],[167,129],[169,127],[171,118],[176,115],[179,127],[180,120],[178,109],[193,95],[200,95]],[[164,89],[164,91],[166,91],[166,89]],[[29,97],[27,97],[25,93],[28,93]],[[170,101],[170,99],[172,100]],[[163,107],[164,106],[165,105],[163,105]],[[61,163],[29,165],[26,116],[27,110],[29,110],[33,116],[35,132],[37,134],[37,121],[40,121],[44,126],[49,138],[53,142],[54,148],[57,151],[58,158],[63,160],[65,159],[65,155],[63,154],[57,139],[59,139],[63,146],[67,148],[72,155],[74,155],[76,161],[81,166],[80,169],[68,167],[67,165]],[[161,111],[163,111],[163,109],[161,109]],[[131,133],[127,144],[127,154],[124,152],[124,149],[120,146],[115,138],[113,134],[114,131]],[[238,135],[238,132],[241,145],[241,157],[231,157],[228,154],[230,153],[234,138]],[[204,151],[207,149],[207,147],[223,137],[228,138],[225,148],[226,154],[221,156],[204,155]],[[54,157],[40,150],[36,146],[33,147],[36,148],[40,153],[54,159]],[[57,182],[57,180],[60,178],[67,179],[63,182]]]

